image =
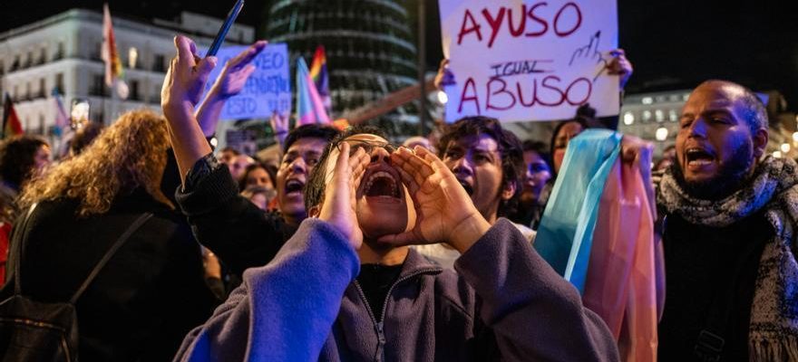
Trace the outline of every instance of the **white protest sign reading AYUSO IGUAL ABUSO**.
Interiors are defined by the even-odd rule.
[[[616,0],[440,0],[446,121],[573,118],[584,103],[618,114],[618,76],[605,69],[618,47]]]

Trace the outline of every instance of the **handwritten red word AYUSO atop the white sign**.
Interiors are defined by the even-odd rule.
[[[514,38],[519,36],[543,36],[549,32],[550,25],[554,33],[560,38],[569,36],[579,29],[582,24],[582,11],[579,9],[579,5],[576,3],[562,5],[557,13],[554,14],[553,22],[550,22],[545,16],[540,14],[545,13],[545,8],[548,6],[549,3],[546,2],[530,6],[522,4],[521,9],[501,6],[495,14],[491,14],[488,8],[483,8],[481,12],[482,18],[491,27],[491,39],[488,41],[488,48],[493,46],[496,36],[501,32],[501,24],[505,24],[504,19],[507,19],[507,31]],[[513,16],[513,10],[520,16]],[[548,15],[550,16],[551,14]],[[527,19],[530,19],[530,29],[527,29]],[[482,42],[482,23],[477,21],[471,10],[466,9],[465,13],[462,14],[460,33],[457,33],[457,45],[460,45],[462,39],[469,34],[476,35],[477,39]]]

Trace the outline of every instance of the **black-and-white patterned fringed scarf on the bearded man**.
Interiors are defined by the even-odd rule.
[[[764,245],[759,261],[748,350],[753,361],[798,361],[798,248],[793,242],[798,232],[798,165],[792,159],[766,157],[746,186],[719,201],[687,195],[667,172],[657,204],[667,214],[711,227],[734,224],[764,208],[774,238]]]

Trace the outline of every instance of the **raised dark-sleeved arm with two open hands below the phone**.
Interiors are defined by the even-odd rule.
[[[182,187],[177,201],[189,216],[195,236],[219,260],[240,275],[245,269],[269,262],[293,230],[284,228],[279,217],[264,214],[238,195],[238,186],[227,167],[219,166],[211,154],[195,118],[197,104],[214,58],[199,60],[189,38],[177,36],[178,56],[172,60],[161,90],[163,113],[169,121],[172,148],[180,168]],[[205,125],[218,119],[223,100],[238,93],[253,68],[248,63],[263,50],[258,42],[225,65],[208,99],[197,114]]]

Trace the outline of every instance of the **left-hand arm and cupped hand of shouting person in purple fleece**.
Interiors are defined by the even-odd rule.
[[[176,361],[308,361],[318,359],[336,320],[363,242],[352,209],[368,157],[338,156],[318,219],[307,219],[273,262],[244,282],[208,322],[183,341]],[[299,318],[297,318],[297,316]]]

